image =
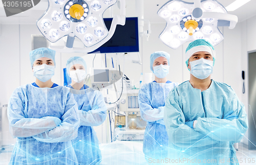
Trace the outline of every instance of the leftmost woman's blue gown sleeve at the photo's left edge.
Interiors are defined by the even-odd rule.
[[[26,89],[23,87],[17,88],[9,99],[7,115],[10,133],[14,138],[31,137],[51,130],[61,123],[61,120],[56,117],[26,118],[27,102]]]

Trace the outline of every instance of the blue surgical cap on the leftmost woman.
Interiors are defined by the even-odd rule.
[[[56,65],[55,63],[55,50],[46,48],[46,47],[41,47],[37,48],[35,50],[30,51],[29,53],[29,58],[30,58],[30,64],[31,67],[33,68],[33,64],[37,59],[40,59],[42,57],[49,58],[53,61],[54,66]]]

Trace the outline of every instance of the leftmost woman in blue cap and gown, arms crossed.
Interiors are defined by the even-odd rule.
[[[77,103],[69,88],[54,84],[55,51],[30,52],[35,82],[20,86],[8,104],[10,133],[17,137],[9,164],[77,164]]]

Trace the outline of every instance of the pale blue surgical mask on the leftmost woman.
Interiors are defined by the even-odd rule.
[[[42,64],[33,67],[34,76],[42,82],[46,82],[54,75],[54,66]]]

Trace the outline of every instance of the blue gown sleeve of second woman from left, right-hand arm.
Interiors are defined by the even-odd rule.
[[[98,126],[101,125],[106,119],[106,107],[104,98],[99,91],[93,91],[88,93],[94,93],[95,96],[92,102],[92,109],[88,112],[78,110],[80,116],[80,125],[82,126]]]

